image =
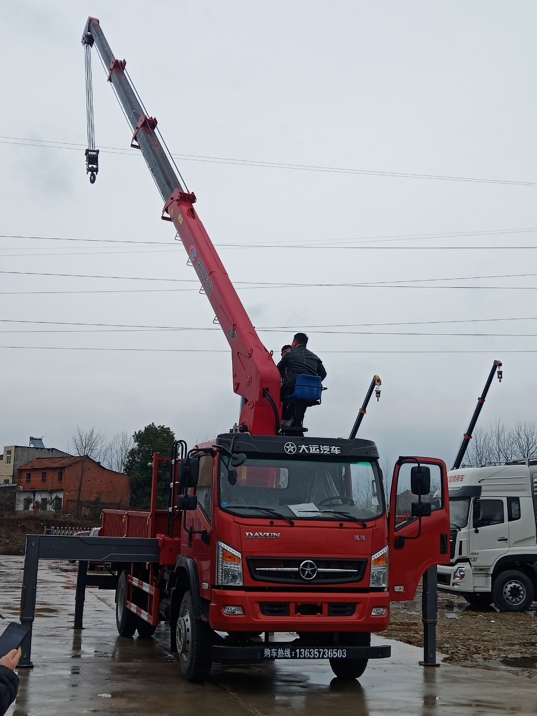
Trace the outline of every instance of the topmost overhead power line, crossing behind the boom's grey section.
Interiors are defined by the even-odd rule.
[[[82,151],[84,145],[77,144],[74,142],[53,142],[52,140],[35,140],[27,137],[2,137],[0,136],[1,144],[21,145],[25,147],[49,147],[52,149],[69,149]],[[126,154],[131,156],[139,156],[139,154],[128,150],[122,149],[122,147],[101,147],[102,153],[109,154]],[[180,159],[189,162],[203,162],[210,164],[233,164],[238,166],[258,167],[266,169],[286,169],[294,171],[307,171],[307,172],[321,172],[321,173],[334,173],[334,174],[350,174],[350,175],[365,175],[365,176],[378,176],[378,177],[395,177],[401,179],[427,179],[427,180],[440,180],[440,181],[463,181],[469,183],[480,183],[480,184],[504,184],[504,185],[518,185],[518,186],[537,186],[537,182],[533,181],[520,181],[511,179],[487,179],[480,177],[465,177],[465,176],[448,176],[441,174],[419,174],[411,172],[394,172],[394,171],[381,171],[372,169],[352,169],[344,167],[330,167],[321,165],[311,164],[294,164],[284,162],[269,162],[264,160],[254,159],[238,159],[230,157],[215,157],[207,155],[195,155],[195,154],[175,154],[170,153],[170,156],[174,159]]]

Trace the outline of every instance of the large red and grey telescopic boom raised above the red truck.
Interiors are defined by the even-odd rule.
[[[157,120],[147,117],[142,109],[125,74],[125,60],[114,57],[97,18],[88,18],[82,44],[95,44],[109,68],[108,81],[133,132],[131,146],[142,152],[165,202],[162,218],[173,222],[231,347],[233,391],[243,397],[239,428],[253,435],[276,435],[281,419],[279,371],[194,209],[195,195],[181,185],[155,132]]]

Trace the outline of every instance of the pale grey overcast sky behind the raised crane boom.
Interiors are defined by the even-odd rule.
[[[228,344],[95,50],[85,174],[89,14],[266,347],[305,330],[324,361],[309,435],[347,437],[377,373],[359,435],[451,463],[494,359],[481,425],[536,418],[534,2],[1,0],[0,447],[149,422],[192,445],[238,417]]]

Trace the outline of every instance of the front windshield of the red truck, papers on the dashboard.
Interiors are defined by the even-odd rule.
[[[248,459],[220,463],[220,505],[242,516],[366,521],[384,512],[376,463]]]

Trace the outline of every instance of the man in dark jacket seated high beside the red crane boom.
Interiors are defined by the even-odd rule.
[[[296,333],[291,350],[284,353],[278,364],[281,375],[281,400],[284,403],[282,425],[302,427],[306,407],[312,405],[304,400],[289,400],[294,392],[296,379],[299,375],[316,375],[321,380],[326,378],[326,370],[321,359],[306,348],[308,337],[305,333]]]

